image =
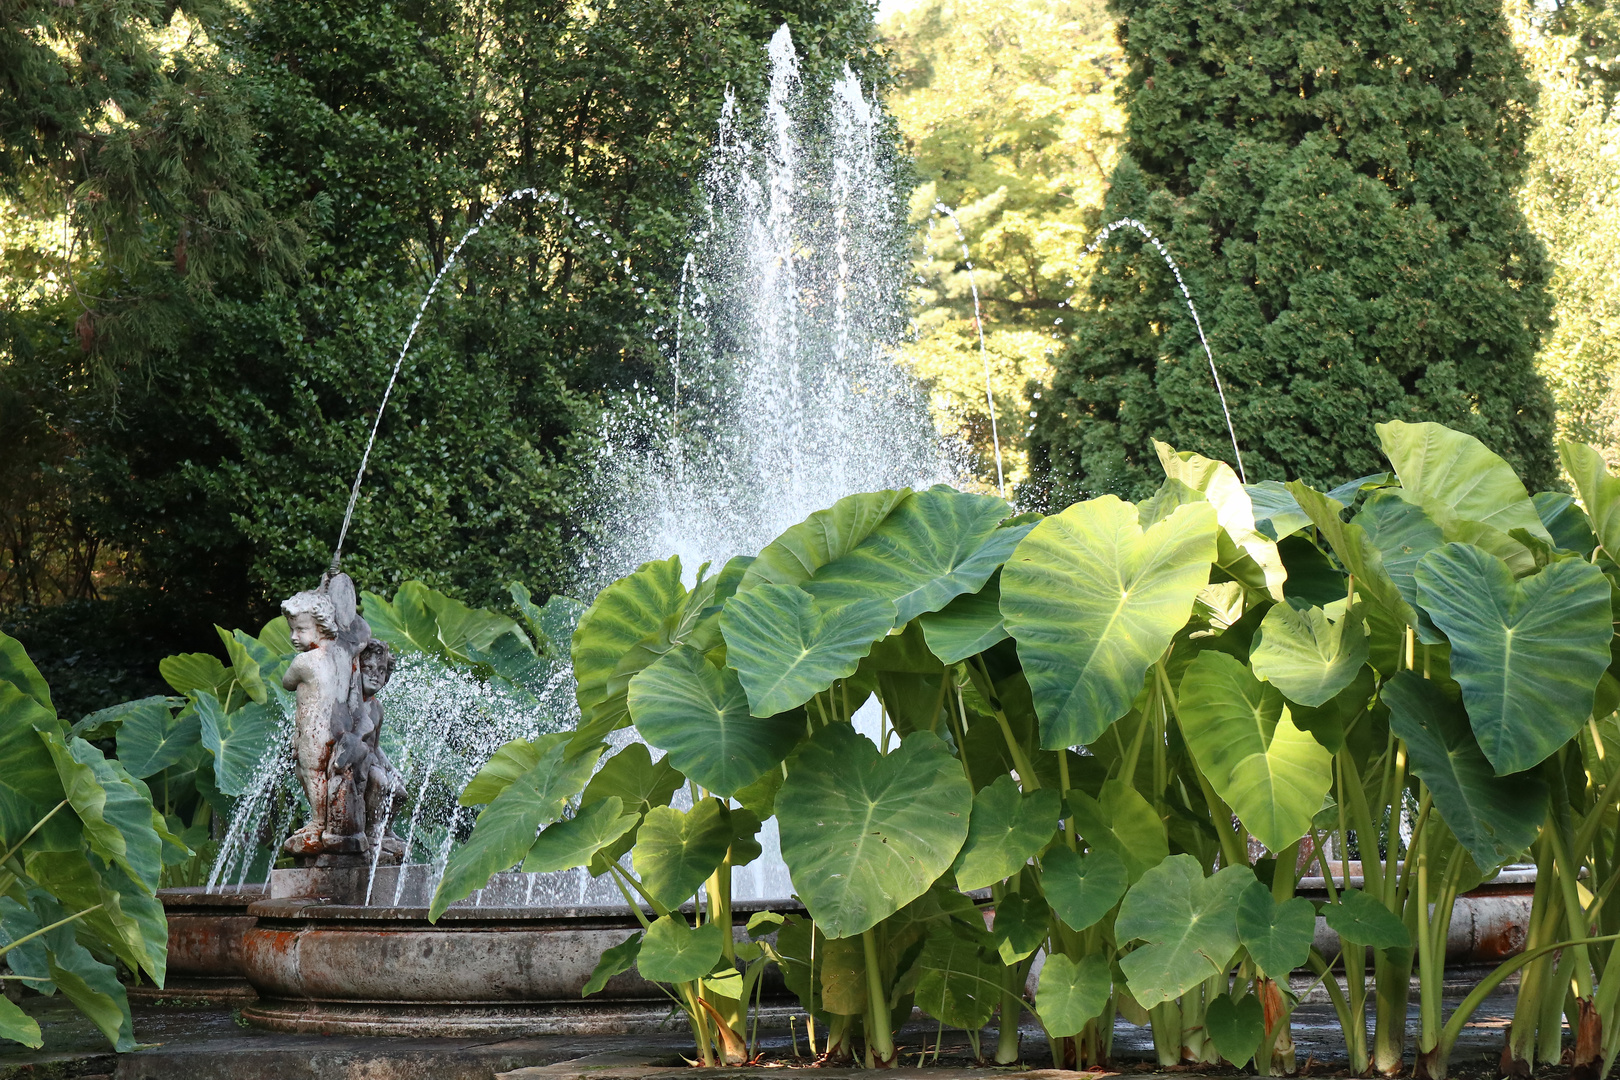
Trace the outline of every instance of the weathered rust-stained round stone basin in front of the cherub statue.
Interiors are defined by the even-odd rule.
[[[766,907],[739,905],[739,928]],[[514,1038],[685,1025],[633,970],[580,997],[601,954],[640,929],[624,907],[458,905],[428,923],[426,907],[267,899],[249,913],[243,967],[259,999],[241,1015],[274,1031]],[[779,976],[763,991],[770,1012],[795,1007]]]

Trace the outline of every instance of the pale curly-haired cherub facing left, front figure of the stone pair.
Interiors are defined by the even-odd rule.
[[[298,696],[293,750],[311,810],[309,821],[293,832],[285,850],[293,855],[361,853],[368,847],[363,793],[353,769],[332,769],[332,755],[353,730],[360,696],[355,661],[371,643],[371,627],[356,612],[355,583],[347,573],[329,573],[319,588],[284,601],[282,614],[298,649],[282,675],[282,687]]]

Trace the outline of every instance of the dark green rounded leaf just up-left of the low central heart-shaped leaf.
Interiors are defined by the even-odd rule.
[[[642,738],[727,798],[781,764],[805,730],[802,716],[752,716],[737,672],[687,644],[632,678],[629,701]]]

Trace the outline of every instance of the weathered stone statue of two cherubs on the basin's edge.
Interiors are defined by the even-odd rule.
[[[284,845],[290,855],[371,855],[399,861],[403,844],[389,819],[402,784],[377,745],[382,703],[376,693],[394,670],[389,646],[360,617],[355,583],[327,573],[321,585],[282,602],[298,656],[282,675],[296,693],[293,748],[309,821]]]

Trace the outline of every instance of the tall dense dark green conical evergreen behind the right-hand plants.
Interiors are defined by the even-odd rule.
[[[1383,468],[1375,421],[1477,436],[1554,483],[1534,369],[1545,254],[1515,189],[1534,84],[1498,0],[1111,0],[1131,73],[1105,219],[1179,261],[1249,481]],[[1158,483],[1152,439],[1233,460],[1158,254],[1116,233],[1042,387],[1025,497]],[[1534,487],[1533,487],[1534,489]]]

